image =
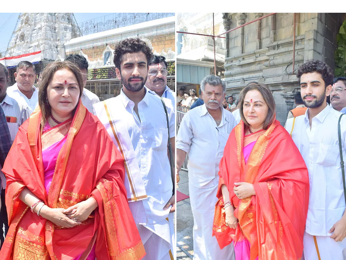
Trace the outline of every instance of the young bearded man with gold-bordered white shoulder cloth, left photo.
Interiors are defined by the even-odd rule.
[[[114,64],[123,84],[121,93],[93,106],[125,160],[125,187],[146,251],[143,259],[171,260],[175,255],[175,192],[167,142],[169,135],[174,151],[175,114],[169,99],[163,98],[163,104],[144,86],[152,55],[139,38],[120,41]]]

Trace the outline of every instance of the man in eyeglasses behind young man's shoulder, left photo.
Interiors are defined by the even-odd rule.
[[[149,64],[145,86],[160,97],[168,98],[175,104],[174,92],[167,86],[167,62],[163,56],[153,55]]]

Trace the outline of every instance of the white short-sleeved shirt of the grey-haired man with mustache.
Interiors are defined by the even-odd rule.
[[[230,111],[222,108],[219,126],[205,104],[189,110],[181,121],[176,148],[189,155],[189,181],[197,188],[213,187],[219,163],[232,129],[237,125]]]

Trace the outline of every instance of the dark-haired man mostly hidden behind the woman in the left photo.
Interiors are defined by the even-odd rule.
[[[88,80],[88,61],[85,59],[85,57],[79,54],[69,54],[65,60],[71,61],[80,69],[83,78],[83,93],[81,96],[82,104],[90,113],[95,114],[92,105],[100,102],[100,99],[97,95],[85,88],[86,80]]]

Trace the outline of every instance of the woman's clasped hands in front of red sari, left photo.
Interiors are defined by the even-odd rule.
[[[57,226],[69,228],[82,224],[97,206],[97,201],[90,197],[67,209],[44,206],[40,215]]]

